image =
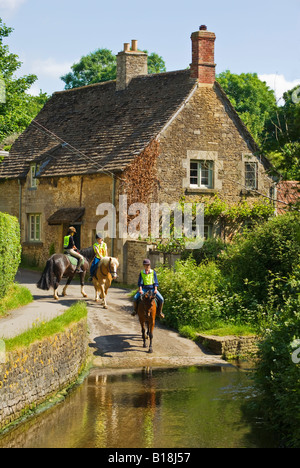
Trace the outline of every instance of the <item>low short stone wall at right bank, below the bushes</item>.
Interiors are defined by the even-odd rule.
[[[256,354],[259,338],[257,336],[209,336],[198,334],[197,341],[214,354],[228,357]]]

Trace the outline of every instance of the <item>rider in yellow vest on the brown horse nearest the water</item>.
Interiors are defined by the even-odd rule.
[[[157,275],[156,271],[151,269],[151,262],[148,259],[145,259],[143,261],[143,266],[144,269],[141,271],[140,276],[139,276],[139,281],[138,281],[138,286],[139,290],[137,294],[134,296],[134,311],[132,312],[132,316],[134,317],[137,314],[138,311],[138,303],[140,297],[145,294],[147,291],[152,290],[154,291],[154,294],[156,294],[156,298],[158,301],[158,316],[160,318],[165,318],[162,310],[164,306],[164,298],[158,291],[158,280],[157,280]]]

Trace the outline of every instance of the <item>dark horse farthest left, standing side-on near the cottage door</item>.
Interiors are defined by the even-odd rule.
[[[81,294],[87,297],[84,291],[84,280],[90,264],[95,257],[94,249],[80,250],[80,254],[84,257],[84,265],[81,266],[82,273],[80,275]],[[55,254],[47,261],[41,279],[37,283],[39,289],[49,291],[50,287],[54,289],[54,299],[58,300],[58,286],[63,277],[68,278],[67,284],[63,289],[63,296],[67,295],[67,287],[76,275],[76,266],[72,265],[68,257],[64,254]]]

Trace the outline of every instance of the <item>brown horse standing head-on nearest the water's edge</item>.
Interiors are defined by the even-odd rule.
[[[148,337],[150,338],[149,353],[153,353],[152,341],[153,341],[153,330],[155,327],[156,311],[157,311],[156,294],[152,290],[147,291],[143,296],[141,296],[141,299],[138,305],[138,316],[139,316],[140,324],[142,327],[144,348],[147,347],[145,324],[147,323],[148,325],[147,334],[148,334]]]

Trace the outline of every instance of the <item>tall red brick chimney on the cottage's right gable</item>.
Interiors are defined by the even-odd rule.
[[[200,84],[212,85],[216,79],[215,40],[216,35],[200,26],[199,31],[192,33],[191,77],[197,78]]]

